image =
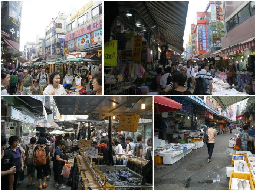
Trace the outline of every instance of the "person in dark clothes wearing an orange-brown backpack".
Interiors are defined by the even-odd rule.
[[[40,137],[37,141],[39,144],[35,147],[34,157],[33,157],[33,165],[36,166],[37,171],[37,181],[39,183],[39,190],[46,188],[48,185],[46,184],[47,176],[49,175],[49,168],[51,165],[51,156],[50,149],[45,144],[47,141],[45,137]],[[43,185],[42,185],[42,172],[43,172]]]

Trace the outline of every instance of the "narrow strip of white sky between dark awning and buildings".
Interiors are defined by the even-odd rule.
[[[209,1],[202,1],[202,0],[190,0],[188,4],[188,13],[186,18],[186,26],[184,30],[184,44],[183,48],[186,49],[186,44],[188,43],[188,34],[191,32],[191,24],[194,23],[196,18],[196,12],[203,12],[205,11]],[[198,6],[200,5],[200,6]]]

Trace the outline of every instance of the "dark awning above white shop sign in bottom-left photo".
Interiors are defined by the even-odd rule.
[[[20,100],[23,105],[29,108],[30,112],[36,114],[36,115],[44,115],[44,109],[47,113],[47,115],[52,114],[52,110],[44,107],[43,108],[43,103],[35,98],[29,97],[29,96],[17,96],[16,97],[18,100]]]

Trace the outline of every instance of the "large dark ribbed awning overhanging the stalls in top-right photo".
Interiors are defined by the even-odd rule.
[[[189,1],[119,1],[118,8],[119,15],[127,22],[126,13],[134,11],[137,18],[141,18],[140,23],[145,24],[145,30],[150,29],[148,31],[153,31],[156,38],[167,42],[169,48],[181,54],[184,51],[183,35],[188,3]],[[136,22],[137,19],[124,25],[134,26]]]

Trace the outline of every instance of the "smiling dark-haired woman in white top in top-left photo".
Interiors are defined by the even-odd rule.
[[[59,72],[52,72],[49,80],[50,85],[45,88],[43,95],[66,95],[63,85],[60,84]]]

